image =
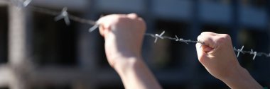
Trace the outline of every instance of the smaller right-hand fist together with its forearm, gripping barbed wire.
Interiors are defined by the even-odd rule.
[[[249,72],[240,66],[232,49],[229,35],[214,32],[202,32],[196,44],[198,59],[205,69],[215,78],[229,85],[230,88],[262,88]]]

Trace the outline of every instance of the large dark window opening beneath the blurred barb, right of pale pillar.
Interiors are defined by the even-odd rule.
[[[33,61],[40,66],[75,66],[77,23],[70,20],[66,25],[64,20],[55,22],[54,18],[33,13]]]

